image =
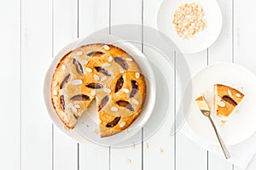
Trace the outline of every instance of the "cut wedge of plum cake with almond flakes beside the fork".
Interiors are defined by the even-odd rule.
[[[222,84],[214,85],[214,111],[217,116],[230,116],[230,113],[236,108],[243,99],[241,94],[235,88],[230,88]]]

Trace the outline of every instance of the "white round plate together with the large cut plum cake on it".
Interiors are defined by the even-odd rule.
[[[109,59],[110,56],[108,56],[108,59],[106,58],[108,60],[108,65],[106,64],[107,61],[104,61],[104,63],[103,63],[104,65],[102,63],[97,63],[97,65],[101,65],[102,68],[104,66],[105,70],[97,70],[98,68],[96,68],[95,65],[93,65],[93,64],[94,64],[94,62],[98,62],[98,60],[94,61],[93,59],[90,59],[90,55],[98,55],[98,54],[101,54],[102,52],[96,53],[96,50],[93,49],[92,52],[94,52],[94,53],[86,54],[87,56],[84,56],[84,58],[82,59],[81,55],[83,55],[83,53],[81,53],[79,51],[80,46],[86,45],[86,44],[92,44],[92,43],[113,44],[113,46],[112,45],[105,46],[103,44],[102,52],[103,53],[105,52],[105,54],[108,54],[107,51],[109,50],[108,49],[109,47],[110,48],[118,47],[118,48],[125,50],[125,52],[127,52],[127,54],[130,57],[128,55],[127,56],[126,55],[113,56],[113,59],[110,60]],[[68,58],[67,59],[65,58],[66,60],[65,59],[62,60],[63,56],[65,56],[65,54],[67,54],[67,52],[69,52],[75,48],[79,48],[79,50],[75,50],[72,52],[72,54],[70,56],[72,58],[71,60],[70,59],[67,60]],[[86,53],[87,53],[87,51],[86,51]],[[105,55],[103,53],[102,53],[102,55]],[[93,56],[93,57],[97,57],[97,56]],[[86,60],[86,63],[84,64],[85,58],[86,59],[88,58],[88,59]],[[111,56],[111,58],[112,58],[112,56]],[[120,58],[123,59],[123,60],[121,60],[122,62],[119,60],[115,60],[115,59],[120,59]],[[136,61],[137,65],[139,65],[139,68],[141,69],[141,72],[139,73],[141,76],[137,73],[139,71],[139,70],[137,70],[137,67],[132,64],[133,59]],[[63,66],[63,65],[61,65],[62,64],[61,62],[66,62],[66,64]],[[73,63],[73,64],[71,64],[71,66],[68,66],[68,68],[67,68],[67,65],[69,65],[68,62]],[[79,62],[79,64],[78,64],[78,62]],[[111,64],[111,63],[113,63],[113,64]],[[124,63],[127,65],[125,65]],[[92,66],[90,66],[90,64],[92,66],[94,66],[95,69]],[[58,65],[61,65],[61,67],[58,67]],[[112,68],[111,65],[115,65],[115,67],[112,70],[111,69],[109,70],[109,68]],[[56,66],[59,68],[58,69],[59,74],[55,74]],[[130,72],[131,70],[124,71],[127,66],[131,67],[131,69],[133,68],[134,71],[133,72]],[[88,68],[90,68],[90,67],[91,67],[91,69],[89,70]],[[116,69],[116,68],[118,68],[118,69]],[[72,72],[72,74],[66,74],[65,71],[67,71],[67,70],[69,73],[70,73],[70,71],[71,72],[77,71],[77,72],[75,74],[73,74],[73,72]],[[86,73],[86,77],[84,78],[83,75],[85,75],[85,72],[86,71],[91,72],[91,70],[93,70],[92,72],[95,72],[93,77],[90,78],[90,74],[87,75],[87,73]],[[109,72],[106,72],[106,70],[109,70]],[[63,72],[63,74],[62,74],[62,72]],[[89,98],[91,99],[92,96],[96,95],[96,98],[99,97],[99,99],[101,99],[103,101],[104,100],[103,97],[105,95],[110,95],[110,93],[112,94],[112,91],[115,91],[116,87],[114,88],[112,86],[113,80],[109,81],[109,83],[107,84],[108,79],[106,80],[106,77],[108,78],[108,75],[119,75],[119,74],[122,74],[124,77],[124,83],[123,83],[124,89],[120,88],[120,89],[118,89],[117,92],[114,92],[116,94],[119,93],[119,96],[113,94],[111,96],[111,100],[108,99],[108,101],[106,102],[107,104],[105,103],[104,105],[102,105],[102,103],[96,104],[96,102],[94,102],[93,100],[90,100],[90,101],[88,100]],[[127,80],[128,80],[130,77],[128,75],[130,75],[130,74],[131,74],[131,79],[132,79],[131,82],[134,80],[137,80],[137,82],[139,83],[141,77],[144,77],[145,83],[146,83],[146,86],[145,86],[146,87],[146,90],[145,90],[146,97],[138,96],[138,95],[142,94],[142,93],[140,93],[140,90],[143,89],[143,86],[140,86],[140,84],[137,85],[138,86],[137,93],[131,96],[132,91],[133,91],[133,84],[129,85],[129,83],[127,82],[126,86],[125,86],[125,80],[126,80],[125,78],[127,78]],[[52,82],[53,75],[55,75],[54,76],[55,79]],[[79,75],[82,75],[82,76],[79,76]],[[105,77],[105,79],[103,80],[104,77]],[[62,81],[62,79],[63,79],[63,81]],[[67,81],[65,81],[66,79],[67,79]],[[89,82],[85,83],[84,79],[85,79],[85,82],[89,79],[92,80],[92,82],[95,81],[95,82],[93,82],[94,85],[92,86],[91,83],[89,83]],[[57,82],[57,83],[55,83],[55,82]],[[63,83],[63,82],[65,82],[65,83]],[[83,87],[81,86],[81,87],[75,88],[75,89],[73,88],[73,86],[81,85],[81,82],[83,82],[82,85],[86,86],[86,88],[94,88],[93,91],[96,91],[96,93],[92,94],[91,90],[89,93],[85,92],[86,90],[84,91],[84,86]],[[104,82],[106,82],[106,84],[104,84]],[[102,87],[100,87],[100,88],[102,88],[102,91],[99,90],[98,87],[96,87],[96,84],[97,85],[100,84],[102,86]],[[109,87],[107,87],[107,86],[109,86]],[[130,87],[130,86],[132,86],[132,87]],[[111,87],[113,87],[113,89]],[[58,89],[55,90],[53,88],[56,88],[56,89],[58,88]],[[59,88],[61,88],[61,90],[59,90]],[[127,88],[129,88],[129,89],[131,88],[130,91]],[[111,92],[110,92],[110,90],[111,90]],[[122,90],[122,92],[120,92],[120,90]],[[67,92],[67,94],[65,94],[66,92]],[[82,93],[82,94],[70,96],[69,95],[70,93],[75,93],[75,94]],[[86,93],[87,93],[87,96],[84,95]],[[123,99],[125,99],[124,96],[126,94],[128,96],[127,97],[128,99],[127,99],[127,101],[126,100],[123,101]],[[130,95],[130,97],[128,94]],[[61,97],[63,97],[63,98],[61,98]],[[119,97],[120,99],[116,99],[116,97]],[[144,99],[142,99],[142,98],[144,98]],[[142,99],[142,100],[140,100],[140,99]],[[64,104],[63,104],[62,100],[65,101]],[[90,102],[89,105],[87,105],[86,102],[84,102],[86,100],[88,100],[88,102]],[[76,40],[75,42],[68,44],[67,47],[62,48],[61,52],[55,56],[55,59],[49,66],[49,70],[46,74],[45,82],[44,82],[44,101],[46,103],[51,120],[55,123],[56,127],[59,127],[61,129],[61,131],[66,133],[71,138],[78,140],[79,142],[81,142],[81,139],[85,139],[85,140],[90,140],[91,142],[96,143],[96,144],[108,146],[108,145],[119,144],[120,142],[124,142],[125,140],[130,139],[148,121],[148,118],[154,109],[154,100],[155,100],[154,73],[151,69],[150,64],[148,63],[148,59],[146,59],[146,57],[135,46],[131,45],[131,43],[122,42],[122,41],[120,41],[119,38],[113,37],[113,36],[110,36],[107,34],[106,35],[95,34],[95,35],[92,35],[92,36],[84,38],[84,39]],[[83,102],[81,102],[81,101],[83,101]],[[116,103],[111,103],[113,101],[115,101]],[[119,102],[119,101],[121,101],[121,102]],[[144,102],[144,104],[142,104],[143,109],[141,112],[139,111],[141,109],[139,106],[140,102],[142,102],[142,103]],[[85,105],[87,107],[86,110],[84,110]],[[105,114],[105,112],[107,113],[107,115],[106,115],[107,120],[105,120],[104,117],[102,117],[102,116],[100,117],[99,114],[97,113],[99,111],[99,107],[101,107],[101,106],[103,108],[101,110],[102,114]],[[106,108],[106,110],[105,110],[105,108]],[[81,110],[84,110],[84,111],[81,111]],[[125,111],[122,111],[122,110],[125,110]],[[130,110],[130,111],[128,111],[128,110]],[[139,116],[137,116],[137,118],[136,117],[132,118],[131,121],[130,120],[127,121],[125,119],[125,117],[132,116],[131,112],[133,112],[133,111],[140,112]],[[59,112],[58,115],[56,114],[56,112]],[[67,112],[67,116],[64,116],[64,114],[66,114],[66,112]],[[110,114],[110,112],[111,112],[111,114]],[[125,116],[123,114],[125,114]],[[117,120],[116,118],[114,118],[114,116],[116,116],[116,118],[119,118],[119,117],[121,117],[121,118],[119,118],[119,120]],[[101,121],[99,121],[99,117],[102,119]],[[110,119],[109,117],[113,118],[113,119]],[[77,122],[76,122],[76,119],[78,119]],[[107,129],[105,128],[105,129],[103,129],[103,130],[105,130],[105,132],[103,132],[103,130],[99,128],[99,124],[102,124],[104,121],[109,121],[109,123],[106,125],[106,127],[108,126],[108,127],[112,128],[117,125],[120,128],[124,127],[124,129],[122,129],[121,132],[119,132],[119,133],[113,133],[113,132],[108,131],[108,128]],[[129,123],[131,123],[131,126],[125,127]],[[63,127],[65,127],[64,124],[66,124],[66,129],[63,129]],[[73,130],[68,129],[68,128],[73,128]],[[101,133],[106,134],[106,137],[101,138]]]

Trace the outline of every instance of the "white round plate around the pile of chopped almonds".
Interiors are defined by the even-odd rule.
[[[158,30],[171,38],[183,54],[193,54],[200,52],[212,45],[218,38],[222,28],[222,14],[215,0],[198,0],[205,11],[207,27],[203,31],[195,34],[195,39],[183,40],[177,36],[172,24],[173,14],[176,9],[184,3],[193,3],[193,0],[165,0],[159,8],[157,14]]]

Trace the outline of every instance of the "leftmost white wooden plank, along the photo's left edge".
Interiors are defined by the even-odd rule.
[[[1,71],[0,160],[3,169],[20,168],[20,1],[0,2]]]

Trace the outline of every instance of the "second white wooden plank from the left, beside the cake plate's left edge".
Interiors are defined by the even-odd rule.
[[[52,51],[52,2],[21,2],[21,169],[51,169],[52,129],[42,92]]]

